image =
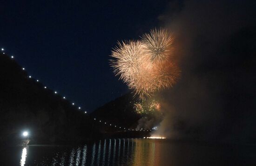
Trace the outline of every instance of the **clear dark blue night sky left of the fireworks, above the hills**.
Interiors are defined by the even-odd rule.
[[[4,1],[0,47],[34,78],[93,111],[128,92],[108,64],[117,40],[137,39],[165,1]]]

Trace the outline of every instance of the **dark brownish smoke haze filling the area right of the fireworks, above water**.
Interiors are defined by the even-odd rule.
[[[159,16],[175,34],[182,76],[159,94],[165,118],[153,135],[256,140],[255,8],[246,0],[174,1]]]

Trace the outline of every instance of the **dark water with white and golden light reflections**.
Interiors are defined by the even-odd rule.
[[[27,146],[1,151],[0,166],[248,166],[255,146],[167,139],[104,139],[81,146]]]

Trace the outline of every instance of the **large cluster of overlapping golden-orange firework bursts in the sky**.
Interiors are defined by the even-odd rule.
[[[142,100],[173,86],[180,74],[171,60],[173,40],[167,30],[154,29],[139,41],[118,42],[111,54],[115,60],[110,60],[115,75]]]

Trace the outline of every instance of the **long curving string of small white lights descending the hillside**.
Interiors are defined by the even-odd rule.
[[[5,49],[4,48],[1,48],[1,53],[2,54],[5,54]],[[10,56],[11,59],[14,59],[14,56]],[[21,70],[26,70],[25,67],[22,67]],[[28,79],[32,79],[33,77],[31,75],[28,75],[27,76]],[[40,82],[38,79],[35,79],[36,82]],[[47,86],[43,86],[44,89],[47,89]],[[54,94],[58,94],[57,91],[54,91]],[[67,98],[65,96],[62,97],[63,100],[67,100]],[[74,102],[70,102],[70,104],[72,106],[75,105]],[[78,106],[77,107],[78,110],[82,110],[81,106]],[[85,111],[84,112],[85,114],[87,114],[87,112]],[[151,130],[145,130],[144,128],[141,128],[141,129],[137,129],[137,128],[129,128],[129,127],[123,127],[123,126],[119,126],[119,125],[114,125],[113,123],[107,123],[107,122],[104,122],[104,120],[100,120],[100,119],[97,119],[96,117],[94,118],[93,120],[95,123],[100,123],[100,124],[103,124],[105,126],[112,126],[114,128],[116,128],[118,131],[124,131],[124,132],[128,132],[128,131],[143,131],[143,132],[149,132]],[[152,130],[156,130],[156,127],[153,127]]]

